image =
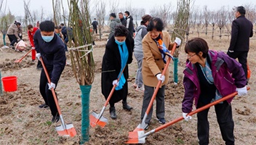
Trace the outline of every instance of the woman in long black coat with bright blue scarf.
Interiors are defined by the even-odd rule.
[[[124,25],[117,25],[114,35],[108,40],[103,55],[102,73],[101,73],[101,91],[108,99],[108,95],[116,84],[115,91],[109,101],[110,115],[113,120],[116,119],[115,103],[122,100],[123,109],[130,111],[132,107],[127,104],[128,85],[128,64],[132,63],[132,51],[134,41],[129,31]],[[124,72],[121,74],[121,71]],[[121,75],[120,75],[121,74]],[[121,76],[119,81],[117,79]]]

